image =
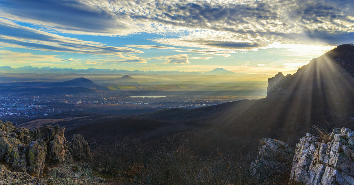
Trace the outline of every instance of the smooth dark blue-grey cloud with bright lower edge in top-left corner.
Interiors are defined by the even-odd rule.
[[[140,30],[125,21],[127,15],[109,7],[108,1],[1,0],[0,6],[1,17],[63,33],[128,35]]]

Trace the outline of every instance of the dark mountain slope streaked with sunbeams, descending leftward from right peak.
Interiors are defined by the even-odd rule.
[[[341,45],[313,59],[293,75],[278,73],[270,78],[266,98],[193,110],[156,111],[138,115],[139,124],[158,120],[178,125],[183,130],[171,124],[161,124],[147,135],[159,135],[160,131],[177,133],[189,138],[198,151],[206,153],[213,148],[237,152],[246,144],[250,149],[252,143],[258,144],[264,137],[280,139],[295,147],[304,134],[313,133],[314,125],[328,131],[333,127],[353,129],[353,56],[354,46]],[[92,124],[99,127],[100,123]],[[83,133],[86,134],[89,132],[84,127],[80,130],[85,130]],[[109,132],[114,133],[113,130]],[[134,133],[127,131],[125,135],[129,137]]]

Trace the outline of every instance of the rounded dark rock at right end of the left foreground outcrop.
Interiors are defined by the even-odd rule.
[[[85,141],[84,135],[74,134],[71,143],[68,143],[69,151],[76,161],[86,160],[90,157],[89,143]]]

